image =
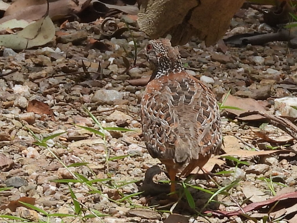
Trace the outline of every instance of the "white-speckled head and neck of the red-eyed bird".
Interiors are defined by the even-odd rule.
[[[146,45],[146,56],[153,70],[151,79],[183,70],[178,48],[171,46],[168,39],[150,40]]]

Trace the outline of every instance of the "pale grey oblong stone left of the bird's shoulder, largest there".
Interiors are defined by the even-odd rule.
[[[123,98],[124,94],[116,90],[100,89],[94,93],[93,97],[91,98],[91,102],[99,102],[99,104],[113,105],[115,100],[121,100]]]

